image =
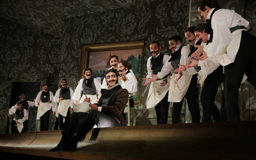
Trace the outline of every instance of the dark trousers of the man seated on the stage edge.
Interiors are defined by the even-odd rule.
[[[61,132],[62,136],[72,138],[76,133],[79,141],[94,127],[117,127],[120,126],[118,118],[111,117],[97,110],[90,110],[88,113],[74,112],[70,118],[68,127]]]

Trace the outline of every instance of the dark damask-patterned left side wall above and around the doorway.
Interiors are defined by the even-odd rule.
[[[1,20],[0,133],[6,128],[12,81],[41,82],[48,79],[50,90],[57,90],[62,42],[56,36]]]

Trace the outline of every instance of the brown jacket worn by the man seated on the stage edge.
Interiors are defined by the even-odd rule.
[[[122,116],[125,105],[128,101],[127,89],[120,88],[114,95],[110,96],[108,106],[101,108],[101,112],[109,115],[118,117],[121,121],[122,126],[126,126],[125,119]],[[98,100],[98,104],[102,103],[103,96]]]

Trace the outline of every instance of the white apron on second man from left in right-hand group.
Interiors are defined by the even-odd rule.
[[[182,72],[182,77],[176,81],[179,74],[173,74],[170,78],[168,102],[180,102],[185,96],[190,85],[192,75]]]

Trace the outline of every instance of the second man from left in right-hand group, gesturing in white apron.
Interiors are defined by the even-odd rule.
[[[170,59],[164,64],[163,68],[157,75],[153,75],[153,78],[148,81],[155,81],[162,79],[168,74],[172,74],[170,78],[170,88],[168,101],[174,102],[172,112],[172,123],[180,123],[180,114],[184,97],[188,101],[189,111],[192,116],[192,123],[200,122],[200,112],[198,104],[198,89],[197,82],[192,81],[192,75],[188,72],[197,72],[194,68],[190,68],[185,72],[182,72],[183,76],[179,79],[181,72],[178,74],[174,72],[179,66],[178,64],[186,65],[189,61],[190,49],[187,46],[182,45],[182,39],[178,35],[174,35],[169,39],[169,48],[172,50]],[[191,69],[193,71],[191,71]]]

